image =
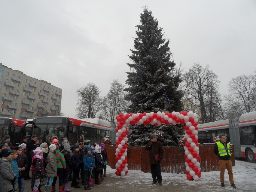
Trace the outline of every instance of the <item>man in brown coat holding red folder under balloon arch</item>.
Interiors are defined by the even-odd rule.
[[[161,160],[163,159],[163,145],[157,141],[155,135],[150,136],[150,141],[145,149],[149,152],[148,161],[150,163],[151,175],[153,178],[152,185],[158,182],[162,185]]]

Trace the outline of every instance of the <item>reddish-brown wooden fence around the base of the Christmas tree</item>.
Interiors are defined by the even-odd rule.
[[[115,169],[115,146],[105,145],[108,154],[108,165]],[[127,155],[128,169],[141,170],[142,172],[150,172],[148,163],[148,151],[145,146],[128,146],[129,154]],[[166,173],[185,174],[185,157],[184,149],[179,147],[163,147],[163,160],[161,161],[161,171]],[[201,159],[201,172],[219,171],[218,157],[213,153],[213,146],[199,146]],[[234,152],[231,156],[232,164],[235,166]],[[129,172],[128,170],[128,172]]]

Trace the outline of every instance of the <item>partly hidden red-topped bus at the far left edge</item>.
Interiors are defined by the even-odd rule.
[[[17,146],[24,136],[31,136],[31,126],[24,127],[21,126],[26,121],[19,119],[11,119],[8,117],[0,117],[0,140],[4,139],[5,135],[11,136],[11,144]]]

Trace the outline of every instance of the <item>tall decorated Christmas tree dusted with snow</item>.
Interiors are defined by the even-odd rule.
[[[163,28],[152,12],[146,8],[140,15],[137,37],[134,38],[134,50],[131,50],[131,62],[127,63],[131,72],[125,89],[127,100],[131,101],[128,111],[133,113],[157,111],[181,111],[183,93],[178,90],[181,79],[174,75],[175,63],[168,47],[169,40],[163,37]],[[155,134],[164,146],[178,145],[183,134],[181,125],[134,125],[128,135],[130,145],[145,145],[151,134]]]

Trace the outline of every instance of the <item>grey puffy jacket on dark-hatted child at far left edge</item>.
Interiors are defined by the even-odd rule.
[[[12,171],[11,160],[7,160],[5,157],[0,159],[0,190],[1,192],[7,192],[12,190],[11,181],[16,177]]]

